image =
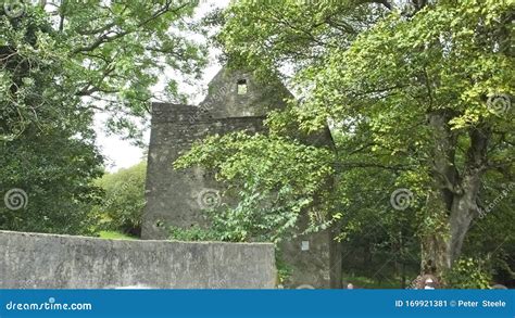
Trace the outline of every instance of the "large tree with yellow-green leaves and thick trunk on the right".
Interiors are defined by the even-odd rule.
[[[389,1],[246,1],[218,16],[217,39],[258,73],[292,66],[300,102],[273,115],[272,129],[313,131],[332,119],[348,139],[338,150],[342,176],[391,170],[382,193],[402,185],[416,193],[422,267],[442,274],[461,255],[487,176],[504,176],[501,191],[513,182],[513,9],[510,1],[414,1],[402,12]]]

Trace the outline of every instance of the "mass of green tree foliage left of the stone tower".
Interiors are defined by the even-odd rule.
[[[1,229],[93,229],[100,194],[91,181],[102,174],[93,115],[139,141],[156,75],[196,78],[205,64],[205,48],[179,34],[192,30],[194,5],[179,2],[38,1],[22,11],[2,2],[0,191],[22,189],[28,202],[0,205]],[[165,85],[167,99],[184,99],[175,80]]]

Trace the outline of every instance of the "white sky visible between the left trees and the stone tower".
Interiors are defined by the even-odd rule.
[[[204,0],[200,1],[198,12],[196,13],[196,18],[202,17],[205,13],[211,11],[213,8],[225,8],[228,5],[229,0]],[[199,40],[202,40],[201,36],[198,36]],[[200,80],[194,87],[186,85],[185,82],[179,84],[179,89],[188,94],[193,94],[194,99],[190,103],[199,103],[203,100],[204,94],[202,91],[205,91],[205,88],[209,81],[216,75],[221,69],[222,65],[217,63],[216,55],[219,52],[217,50],[210,50],[210,65],[204,71],[202,80]],[[166,72],[162,75],[161,82],[155,87],[155,91],[162,90],[166,82],[166,78],[174,77],[177,78],[174,72]],[[100,148],[101,153],[105,157],[105,168],[109,171],[116,171],[121,168],[127,168],[135,164],[138,164],[142,160],[146,160],[143,156],[143,150],[130,144],[127,140],[122,140],[118,136],[108,136],[105,132],[105,116],[99,114],[96,116],[96,131],[97,131],[97,144]],[[148,144],[150,138],[150,131],[145,131],[145,142]]]

